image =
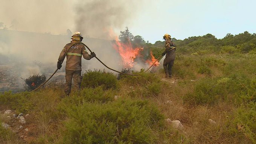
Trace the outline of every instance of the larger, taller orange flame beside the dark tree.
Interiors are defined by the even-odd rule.
[[[114,49],[117,50],[117,52],[122,57],[123,68],[133,67],[134,59],[139,54],[139,51],[143,50],[143,48],[133,49],[130,40],[127,42],[127,44],[124,44],[124,43],[118,41],[117,37],[116,37],[115,44],[113,45],[113,47],[114,47]]]

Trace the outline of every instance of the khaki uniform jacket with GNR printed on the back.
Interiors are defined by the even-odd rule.
[[[59,55],[58,61],[61,62],[65,59],[65,53],[67,52],[67,49],[72,45],[73,42],[66,44],[63,50],[61,51]],[[86,50],[85,46],[82,44],[74,44],[72,47],[67,52],[67,62],[66,62],[66,70],[82,70],[81,69],[81,61],[82,61],[82,56],[90,60],[92,58],[91,55],[89,55]]]

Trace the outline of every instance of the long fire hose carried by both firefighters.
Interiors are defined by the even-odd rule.
[[[90,48],[89,48],[87,45],[85,45],[84,43],[82,43],[82,42],[75,42],[75,43],[73,43],[72,45],[70,45],[70,47],[72,47],[74,44],[82,44],[82,45],[84,45],[90,52],[92,52],[92,51],[90,50]],[[67,52],[69,51],[70,47],[67,49],[65,56],[67,55]],[[161,55],[161,56],[163,56],[163,55]],[[159,57],[157,58],[157,60],[156,60],[146,71],[144,71],[143,73],[146,73],[146,72],[158,61],[158,59],[161,58],[161,56],[159,56]],[[101,62],[101,64],[103,64],[106,68],[108,68],[108,69],[110,69],[110,70],[113,70],[113,71],[116,71],[117,73],[126,74],[126,75],[129,75],[129,76],[137,76],[137,75],[139,75],[139,74],[142,74],[142,73],[128,74],[128,73],[123,73],[123,72],[121,72],[121,71],[114,70],[113,68],[110,68],[110,67],[108,67],[106,64],[104,64],[104,62],[102,62],[99,58],[97,58],[97,56],[95,56],[95,58],[96,58],[99,62]],[[63,61],[64,61],[64,60],[63,60]],[[63,61],[61,62],[61,64],[63,63]],[[42,85],[38,86],[38,87],[37,87],[36,89],[34,89],[33,91],[36,91],[37,89],[39,89],[39,88],[41,88],[43,85],[45,85],[45,84],[53,77],[53,75],[54,75],[58,70],[59,70],[59,69],[57,68],[57,69],[55,70],[55,72],[52,74],[52,76],[49,77],[49,79],[47,79]],[[32,92],[32,91],[30,91],[30,92]]]

